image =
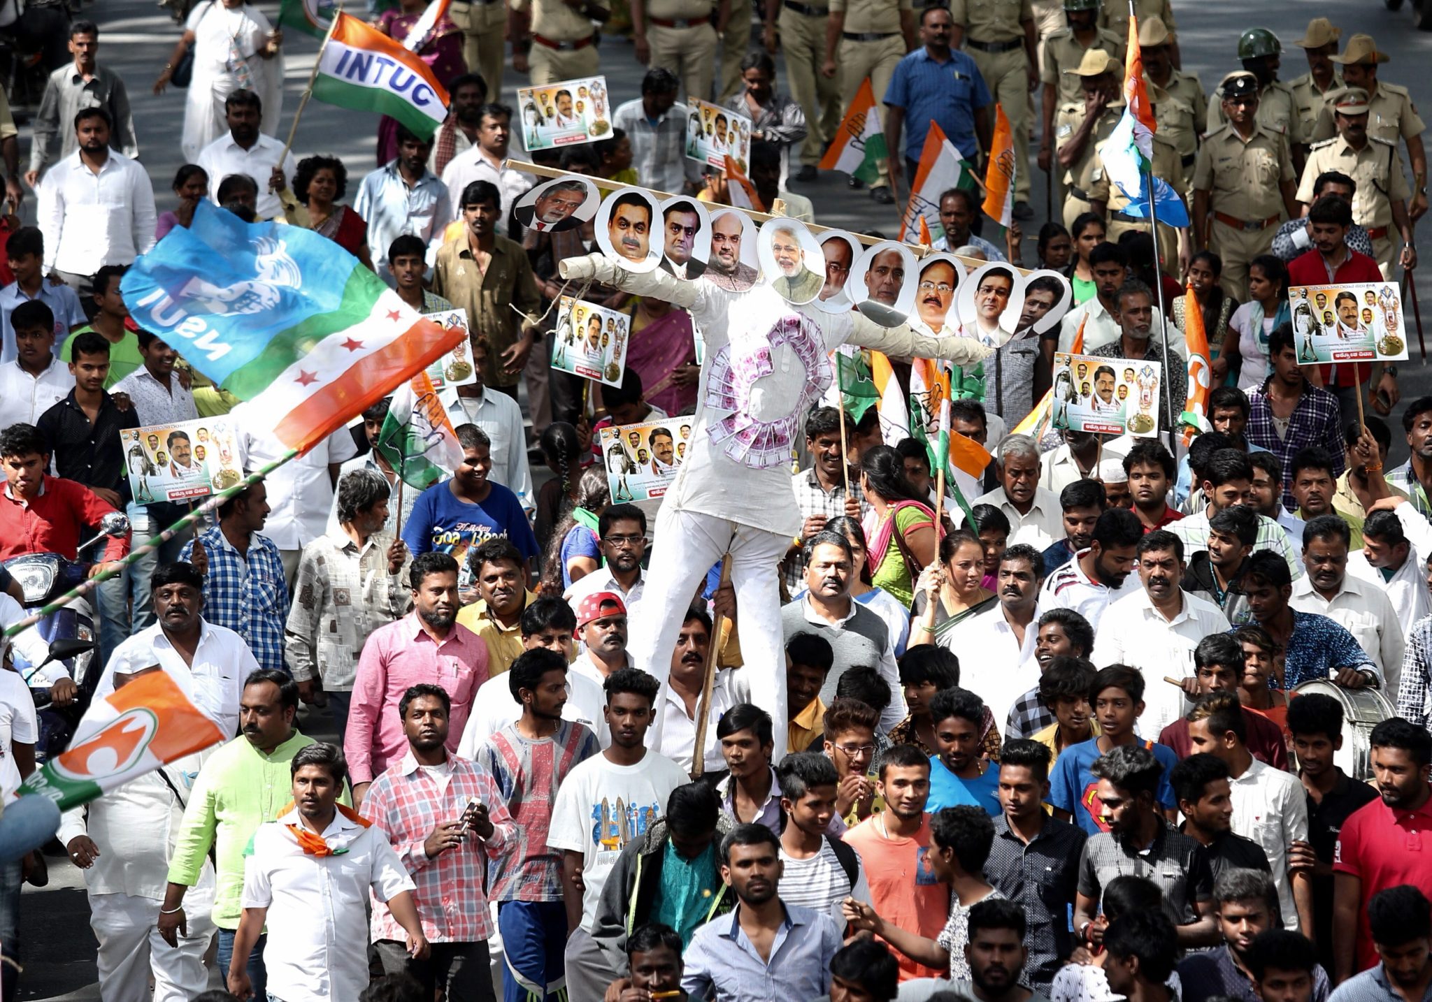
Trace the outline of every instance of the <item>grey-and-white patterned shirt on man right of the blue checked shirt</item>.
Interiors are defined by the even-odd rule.
[[[328,693],[352,690],[368,634],[408,610],[404,568],[388,573],[391,545],[392,532],[382,531],[362,550],[344,532],[304,547],[285,631],[294,678],[321,678]]]

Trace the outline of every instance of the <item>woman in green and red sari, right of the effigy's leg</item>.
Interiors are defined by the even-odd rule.
[[[905,459],[889,445],[876,445],[861,457],[861,491],[871,505],[865,517],[871,584],[909,608],[915,580],[935,560],[939,545],[935,512],[905,480]]]

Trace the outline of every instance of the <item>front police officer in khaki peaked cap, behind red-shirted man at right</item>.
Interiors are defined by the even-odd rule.
[[[1358,183],[1352,202],[1353,222],[1368,230],[1382,276],[1392,278],[1398,246],[1392,239],[1395,233],[1402,236],[1402,266],[1416,268],[1412,219],[1408,216],[1412,189],[1402,172],[1398,142],[1368,133],[1370,106],[1362,87],[1343,87],[1329,94],[1327,100],[1337,136],[1313,145],[1297,186],[1297,200],[1305,206],[1313,203],[1313,185],[1325,170],[1348,175]]]

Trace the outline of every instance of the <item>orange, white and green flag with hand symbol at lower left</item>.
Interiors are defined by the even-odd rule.
[[[69,750],[30,773],[20,793],[69,810],[222,740],[169,673],[150,671],[90,703]]]

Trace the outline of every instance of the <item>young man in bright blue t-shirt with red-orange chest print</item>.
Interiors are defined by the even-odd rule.
[[[1097,794],[1098,780],[1094,779],[1090,766],[1116,746],[1141,744],[1150,749],[1164,767],[1163,776],[1158,777],[1157,800],[1171,820],[1177,800],[1169,784],[1169,770],[1179,763],[1179,756],[1163,744],[1140,741],[1134,733],[1134,723],[1144,711],[1144,677],[1127,664],[1101,668],[1094,676],[1088,701],[1094,706],[1101,733],[1088,741],[1064,749],[1054,763],[1050,776],[1050,806],[1054,807],[1054,816],[1074,822],[1090,835],[1107,832],[1108,823],[1101,816],[1103,804]]]

